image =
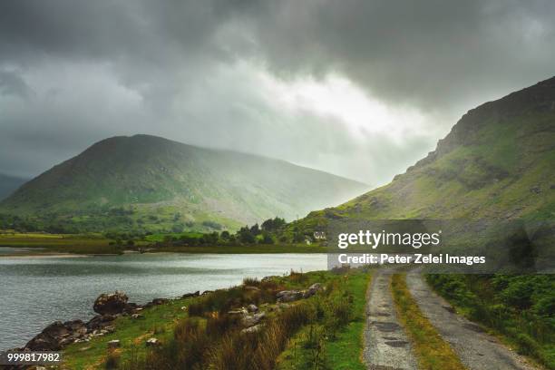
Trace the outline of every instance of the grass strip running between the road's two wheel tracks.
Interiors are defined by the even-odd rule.
[[[399,320],[413,340],[420,367],[426,370],[466,369],[453,348],[422,314],[406,286],[405,278],[406,274],[394,274],[391,288]]]

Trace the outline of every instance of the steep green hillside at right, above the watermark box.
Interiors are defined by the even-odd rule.
[[[554,219],[555,77],[466,113],[435,151],[327,219]]]

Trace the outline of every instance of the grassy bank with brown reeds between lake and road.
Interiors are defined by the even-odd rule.
[[[239,287],[170,300],[143,310],[143,318],[119,317],[112,334],[68,346],[63,368],[229,369],[231,364],[243,369],[256,364],[256,368],[272,369],[277,363],[279,368],[306,368],[289,358],[294,344],[303,343],[298,361],[312,354],[318,357],[316,363],[320,366],[316,368],[330,365],[334,369],[362,369],[368,279],[369,274],[360,269],[305,274],[292,271],[286,277],[245,279]],[[287,305],[275,303],[278,291],[306,288],[316,282],[326,287],[316,296]],[[241,333],[239,317],[229,314],[229,310],[248,304],[256,304],[267,317],[258,331]],[[303,333],[311,330],[309,340],[315,346],[304,339]],[[159,339],[161,346],[145,346],[151,337]],[[112,339],[119,339],[122,346],[108,349]],[[288,367],[291,365],[295,367]]]

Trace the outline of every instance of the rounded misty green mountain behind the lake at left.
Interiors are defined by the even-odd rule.
[[[78,229],[231,229],[302,217],[365,184],[236,151],[149,135],[113,137],[47,170],[0,203],[0,213]]]

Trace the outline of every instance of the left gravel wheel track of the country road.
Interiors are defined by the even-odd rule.
[[[376,270],[367,294],[363,357],[370,370],[417,369],[410,341],[395,315],[392,273],[385,268]]]

